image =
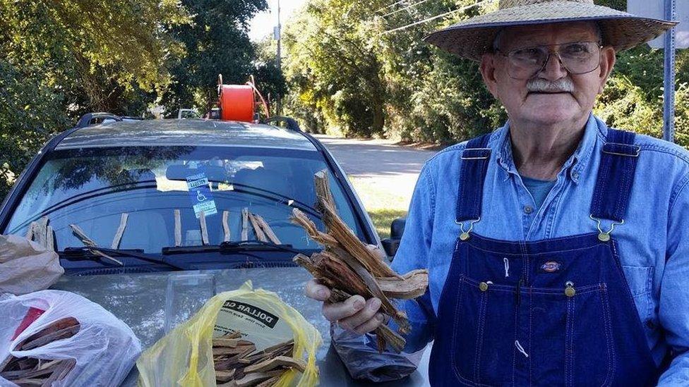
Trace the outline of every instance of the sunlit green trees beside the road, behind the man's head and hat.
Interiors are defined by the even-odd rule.
[[[478,64],[422,41],[457,18],[492,11],[496,2],[386,32],[476,1],[426,1],[405,11],[373,12],[393,2],[310,0],[293,18],[286,38],[292,113],[320,133],[339,129],[426,142],[462,141],[504,123],[506,113],[484,87]],[[625,0],[597,4],[626,8]],[[609,125],[660,137],[662,98],[663,53],[643,45],[618,53],[594,112]],[[382,129],[366,109],[373,100],[383,106]],[[678,51],[676,109],[676,141],[689,147],[689,50]]]

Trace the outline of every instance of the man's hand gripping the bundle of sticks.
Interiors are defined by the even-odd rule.
[[[383,324],[385,317],[378,312],[381,300],[371,298],[364,300],[360,295],[353,295],[344,302],[330,303],[330,289],[315,279],[306,283],[306,297],[323,302],[323,316],[331,322],[337,322],[343,329],[359,333],[369,333]]]

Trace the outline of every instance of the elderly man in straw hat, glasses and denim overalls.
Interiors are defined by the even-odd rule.
[[[405,352],[434,340],[432,385],[689,385],[689,152],[592,115],[616,51],[673,25],[592,0],[501,0],[426,38],[480,61],[509,116],[426,163],[393,262],[429,269],[429,292],[405,304]],[[411,369],[367,346],[380,305],[323,305],[355,376]]]

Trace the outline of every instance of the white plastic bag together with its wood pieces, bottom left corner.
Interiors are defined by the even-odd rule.
[[[0,386],[118,386],[141,352],[131,329],[61,290],[0,297]]]

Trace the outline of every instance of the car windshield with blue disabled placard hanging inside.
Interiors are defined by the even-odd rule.
[[[313,208],[313,174],[325,168],[318,152],[290,149],[59,150],[30,184],[6,233],[27,235],[32,222],[47,217],[56,250],[83,245],[83,237],[71,227],[75,225],[98,246],[114,246],[124,228],[117,247],[160,253],[163,247],[202,245],[205,235],[210,245],[256,240],[258,233],[265,238],[270,228],[284,245],[318,249],[289,216],[299,208],[323,229]],[[340,183],[329,175],[340,216],[364,238]]]

